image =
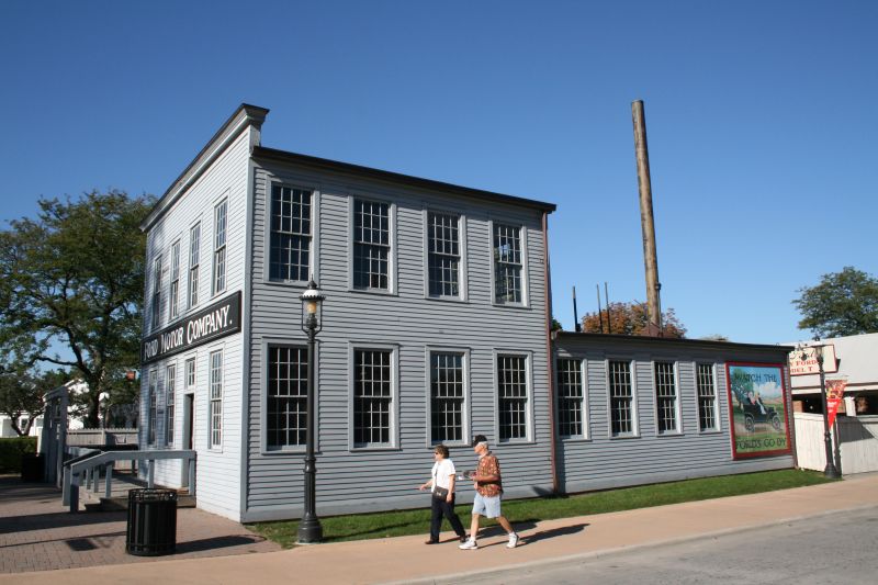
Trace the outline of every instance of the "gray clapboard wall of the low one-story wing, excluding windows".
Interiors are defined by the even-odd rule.
[[[727,392],[728,361],[784,362],[784,350],[757,350],[735,344],[693,350],[679,344],[650,342],[618,336],[561,335],[556,358],[585,361],[588,439],[560,439],[559,475],[566,492],[606,490],[626,485],[710,475],[791,468],[792,455],[733,460]],[[631,360],[635,380],[638,436],[610,437],[607,361]],[[658,435],[655,413],[653,363],[676,364],[677,400],[682,432]],[[720,428],[700,431],[696,392],[696,363],[714,364],[717,416]],[[786,374],[785,374],[786,375]],[[786,381],[789,389],[788,380]]]

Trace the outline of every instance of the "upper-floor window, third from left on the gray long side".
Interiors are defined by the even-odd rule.
[[[460,296],[460,217],[427,214],[430,296]]]

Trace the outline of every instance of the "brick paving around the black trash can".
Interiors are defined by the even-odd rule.
[[[244,526],[194,508],[177,510],[177,553],[162,559],[281,550]],[[24,573],[153,558],[125,553],[126,513],[70,514],[60,491],[0,476],[0,573]]]

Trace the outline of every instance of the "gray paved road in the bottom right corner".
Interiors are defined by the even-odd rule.
[[[878,506],[457,583],[878,583]],[[438,583],[441,583],[438,582]]]

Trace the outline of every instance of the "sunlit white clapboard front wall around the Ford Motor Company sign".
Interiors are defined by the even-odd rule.
[[[198,312],[209,304],[245,288],[245,265],[248,205],[248,160],[249,145],[252,140],[251,127],[244,131],[230,142],[226,149],[211,166],[178,198],[173,204],[150,226],[147,234],[147,266],[153,266],[156,255],[162,255],[162,303],[159,328],[168,326],[169,308],[167,295],[170,291],[170,247],[180,240],[180,318]],[[214,250],[214,207],[222,200],[227,200],[226,226],[226,288],[213,294],[213,250]],[[190,228],[201,222],[201,252],[199,304],[189,307],[188,272]],[[146,330],[151,315],[149,299],[155,274],[147,273],[145,316]],[[210,353],[223,350],[223,440],[222,449],[209,449],[209,359]],[[142,378],[142,414],[148,413],[147,372],[156,369],[159,373],[159,409],[157,441],[158,448],[179,449],[183,432],[183,394],[184,362],[195,358],[195,390],[193,414],[193,448],[198,451],[196,490],[199,507],[221,514],[228,518],[240,519],[240,458],[243,445],[241,407],[244,380],[243,370],[243,335],[235,334],[222,340],[200,346],[193,350],[157,361],[144,368]],[[177,364],[177,405],[175,442],[165,445],[165,381],[166,368]],[[146,416],[142,416],[146,420]],[[143,427],[143,426],[142,426]],[[145,445],[145,429],[142,431],[142,445]],[[170,487],[182,484],[183,470],[179,462],[161,461],[156,464],[156,482]]]

